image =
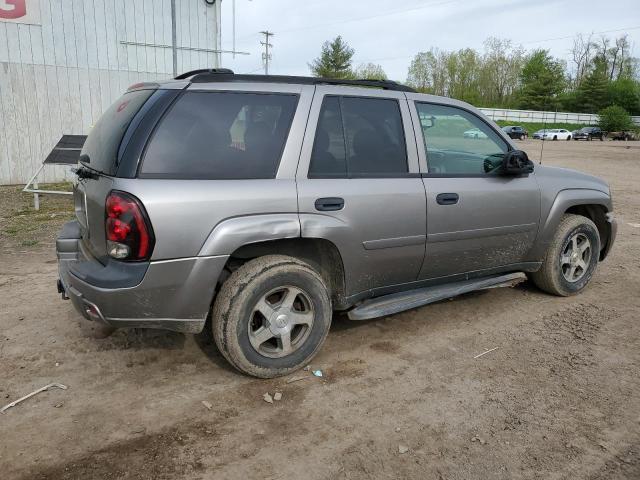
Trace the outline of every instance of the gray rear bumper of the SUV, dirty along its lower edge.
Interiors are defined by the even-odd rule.
[[[92,258],[77,222],[56,241],[59,290],[85,318],[113,327],[162,328],[198,333],[204,327],[227,256],[146,263]]]

